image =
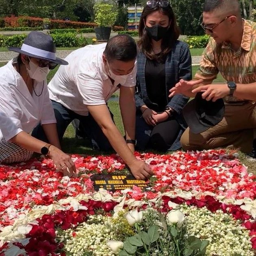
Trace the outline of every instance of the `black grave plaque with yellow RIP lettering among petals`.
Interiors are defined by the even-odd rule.
[[[116,191],[122,189],[132,189],[134,185],[137,187],[147,187],[145,180],[136,180],[132,175],[112,175],[112,174],[94,174],[91,177],[94,182],[95,191],[106,189],[108,191]]]

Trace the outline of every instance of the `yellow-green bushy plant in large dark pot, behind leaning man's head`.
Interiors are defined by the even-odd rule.
[[[98,25],[95,27],[97,40],[108,40],[111,33],[111,26],[115,23],[117,11],[113,4],[106,2],[98,2],[94,5],[95,19],[94,22]]]

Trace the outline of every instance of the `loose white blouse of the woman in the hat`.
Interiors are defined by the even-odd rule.
[[[21,131],[30,133],[39,124],[56,123],[47,82],[34,81],[33,95],[22,76],[15,70],[12,59],[0,67],[0,141],[9,141]]]

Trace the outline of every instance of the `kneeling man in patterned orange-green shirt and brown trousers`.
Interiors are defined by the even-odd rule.
[[[202,27],[210,35],[194,81],[181,80],[170,90],[216,101],[223,98],[225,115],[208,130],[194,134],[189,128],[181,138],[184,150],[231,146],[248,153],[256,128],[256,23],[243,20],[237,0],[206,0]],[[217,74],[227,81],[211,84]]]

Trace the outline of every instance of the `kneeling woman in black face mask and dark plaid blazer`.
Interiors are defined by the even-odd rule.
[[[182,78],[191,80],[191,55],[178,41],[179,29],[166,0],[150,0],[139,22],[137,92],[135,93],[137,148],[166,151],[180,148],[186,128],[182,108],[188,98],[168,98]]]

